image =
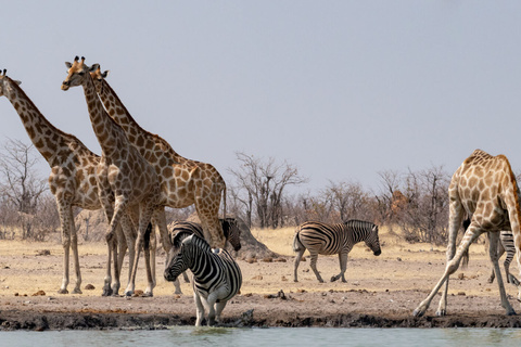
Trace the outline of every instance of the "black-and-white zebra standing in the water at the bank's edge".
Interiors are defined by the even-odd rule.
[[[193,273],[195,326],[202,323],[204,307],[208,309],[207,324],[214,325],[220,321],[227,301],[241,288],[241,269],[226,249],[212,249],[204,239],[181,231],[173,240],[165,280],[175,281],[187,269]]]

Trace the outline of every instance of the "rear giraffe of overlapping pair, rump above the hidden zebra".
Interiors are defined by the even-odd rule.
[[[195,204],[204,237],[212,247],[225,247],[226,239],[218,219],[221,195],[226,218],[226,183],[220,174],[211,164],[180,156],[166,140],[141,128],[106,82],[107,74],[109,72],[101,73],[100,68],[92,73],[98,94],[109,115],[155,168],[162,188],[162,205],[182,208]],[[160,227],[163,246],[168,252],[168,231],[163,216],[156,214],[156,224]]]

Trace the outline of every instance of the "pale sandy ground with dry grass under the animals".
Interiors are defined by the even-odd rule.
[[[424,299],[443,273],[444,247],[409,245],[389,235],[381,237],[382,255],[374,257],[363,245],[350,254],[347,283],[318,283],[309,261],[301,262],[300,282],[293,282],[294,256],[291,235],[277,231],[259,234],[280,258],[239,259],[243,274],[241,294],[224,310],[224,323],[231,326],[521,326],[519,316],[506,317],[497,284],[487,283],[490,261],[483,245],[471,249],[468,269],[450,281],[448,314],[436,318],[439,296],[423,318],[412,310]],[[270,239],[279,240],[270,246]],[[283,239],[283,242],[280,242]],[[275,248],[275,249],[274,249]],[[50,254],[47,254],[49,250]],[[306,254],[307,256],[307,254]],[[82,294],[58,294],[62,279],[63,249],[56,243],[0,241],[0,330],[60,329],[158,329],[193,324],[195,306],[191,285],[182,283],[182,295],[174,295],[163,279],[165,255],[157,256],[157,286],[154,297],[102,297],[105,246],[80,245]],[[141,259],[141,265],[143,264]],[[128,274],[128,264],[124,277]],[[319,256],[325,279],[339,272],[336,256]],[[512,265],[512,273],[518,274]],[[74,283],[74,277],[71,283]],[[125,282],[125,281],[123,281]],[[86,287],[92,287],[87,290]],[[122,285],[125,287],[125,283]],[[140,268],[136,288],[144,290]],[[69,291],[73,285],[69,284]],[[120,291],[123,293],[123,290]],[[513,308],[517,288],[507,284]],[[253,310],[253,311],[252,311]]]

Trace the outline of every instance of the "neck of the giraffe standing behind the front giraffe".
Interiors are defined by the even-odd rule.
[[[152,134],[139,126],[106,80],[103,79],[97,83],[101,83],[98,86],[98,93],[106,112],[123,128],[130,143],[149,163],[158,164],[165,152],[178,162],[185,159],[163,138]]]

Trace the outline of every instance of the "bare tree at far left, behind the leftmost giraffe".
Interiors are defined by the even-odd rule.
[[[0,154],[0,170],[3,174],[0,192],[18,213],[23,239],[34,236],[34,216],[41,195],[48,190],[47,181],[36,175],[38,158],[34,145],[20,140],[8,140]]]

